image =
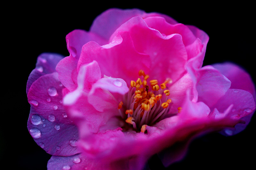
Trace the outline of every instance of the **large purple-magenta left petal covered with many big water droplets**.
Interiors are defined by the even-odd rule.
[[[41,76],[31,85],[28,131],[47,153],[70,156],[78,153],[78,131],[61,104],[63,88],[56,72]]]

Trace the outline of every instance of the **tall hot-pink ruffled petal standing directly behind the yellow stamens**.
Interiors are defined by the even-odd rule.
[[[166,78],[171,78],[177,81],[185,73],[187,52],[181,35],[162,35],[148,27],[140,17],[128,20],[115,33],[120,31],[129,32],[135,49],[149,56],[151,63],[150,71],[147,73],[150,79],[164,82]]]

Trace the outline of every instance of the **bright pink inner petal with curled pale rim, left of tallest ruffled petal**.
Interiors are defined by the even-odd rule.
[[[138,53],[134,49],[127,32],[120,32],[113,39],[113,43],[108,45],[100,46],[95,42],[85,44],[79,58],[78,69],[93,60],[99,63],[101,75],[121,78],[129,84],[131,80],[138,79],[140,69],[148,71],[150,62],[148,55]]]

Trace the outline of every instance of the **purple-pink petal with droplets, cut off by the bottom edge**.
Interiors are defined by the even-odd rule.
[[[48,170],[110,170],[108,165],[88,159],[83,154],[64,157],[52,156],[47,164]]]

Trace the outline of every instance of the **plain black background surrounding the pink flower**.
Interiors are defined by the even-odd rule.
[[[46,170],[51,155],[29,135],[26,83],[43,52],[68,56],[65,36],[74,29],[89,30],[93,19],[109,8],[140,8],[164,13],[195,25],[210,37],[204,65],[231,61],[244,67],[255,82],[255,13],[252,4],[125,3],[15,4],[2,16],[2,123],[0,154],[7,169]],[[12,4],[14,5],[14,4]],[[187,156],[167,169],[249,168],[255,162],[255,115],[234,136],[210,134],[193,141]],[[152,159],[151,161],[154,161]],[[157,161],[156,161],[157,162]],[[153,170],[153,169],[152,169]]]

